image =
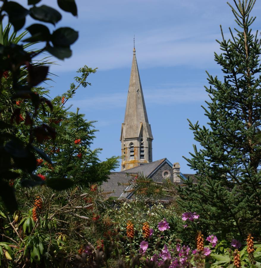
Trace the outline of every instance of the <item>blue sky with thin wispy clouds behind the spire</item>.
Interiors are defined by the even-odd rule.
[[[26,6],[27,1],[20,1]],[[56,7],[56,1],[43,4]],[[111,0],[76,1],[78,18],[61,12],[56,27],[70,26],[79,31],[72,46],[73,56],[50,71],[57,75],[51,83],[52,96],[68,88],[76,70],[98,67],[89,77],[91,87],[81,88],[70,102],[88,120],[97,120],[95,147],[103,148],[100,159],[120,155],[120,130],[124,121],[132,62],[133,35],[141,84],[154,140],[153,160],[168,158],[179,162],[181,172],[193,173],[182,156],[193,152],[195,143],[187,118],[207,123],[201,105],[208,96],[205,70],[222,79],[214,61],[221,53],[216,39],[225,37],[228,27],[236,27],[227,0]],[[232,0],[230,0],[232,3]],[[41,2],[40,2],[41,4]],[[261,14],[257,1],[252,15]],[[253,29],[260,29],[261,16]],[[30,25],[32,20],[27,20]],[[54,28],[54,27],[51,27]]]

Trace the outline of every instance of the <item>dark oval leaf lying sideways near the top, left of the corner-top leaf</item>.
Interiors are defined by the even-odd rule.
[[[35,20],[49,22],[54,25],[62,18],[62,15],[57,10],[46,5],[31,7],[30,15]]]

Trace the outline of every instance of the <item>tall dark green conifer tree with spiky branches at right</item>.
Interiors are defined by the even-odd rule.
[[[198,150],[194,145],[192,158],[186,158],[197,183],[190,178],[178,193],[183,210],[201,215],[204,231],[244,236],[248,231],[259,234],[261,220],[261,49],[258,33],[249,28],[255,0],[233,1],[228,5],[237,29],[234,34],[229,28],[231,38],[225,40],[220,27],[222,53],[215,53],[224,80],[207,73],[210,101],[202,107],[208,127],[189,121],[201,146]]]

